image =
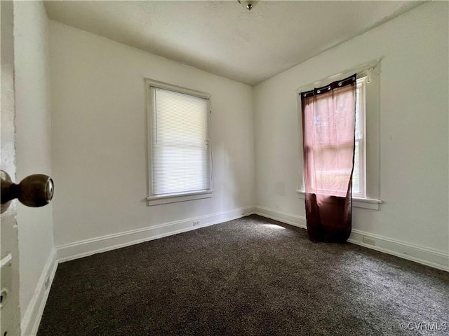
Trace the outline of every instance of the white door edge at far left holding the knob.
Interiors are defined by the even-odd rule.
[[[1,170],[15,181],[15,94],[13,1],[0,1],[1,31]],[[3,173],[2,173],[3,174]],[[4,176],[2,176],[4,177]],[[1,336],[20,335],[19,258],[16,202],[0,218]]]

